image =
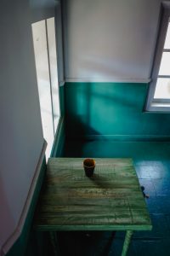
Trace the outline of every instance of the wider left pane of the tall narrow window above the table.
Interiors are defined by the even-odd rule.
[[[47,158],[54,142],[53,115],[48,69],[48,50],[45,20],[32,24],[34,54],[37,70],[37,85],[40,100],[43,137],[48,143]]]

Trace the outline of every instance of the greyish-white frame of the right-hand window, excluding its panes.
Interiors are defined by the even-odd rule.
[[[152,112],[170,112],[170,100],[167,99],[154,99],[156,90],[156,81],[161,65],[161,56],[167,35],[167,26],[170,19],[170,3],[161,3],[160,27],[158,30],[155,58],[151,72],[151,82],[146,102],[146,111]],[[159,76],[159,78],[170,78],[170,76]]]

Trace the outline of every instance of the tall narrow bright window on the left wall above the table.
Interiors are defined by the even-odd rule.
[[[37,70],[37,86],[42,117],[43,137],[49,157],[59,122],[59,85],[54,18],[32,24],[32,37]]]

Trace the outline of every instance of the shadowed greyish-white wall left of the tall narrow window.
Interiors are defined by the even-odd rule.
[[[1,1],[0,251],[16,231],[44,143],[31,22],[29,1]]]

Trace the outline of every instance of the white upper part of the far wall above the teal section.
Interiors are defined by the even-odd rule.
[[[150,79],[160,3],[65,0],[65,79]]]

